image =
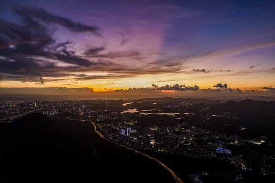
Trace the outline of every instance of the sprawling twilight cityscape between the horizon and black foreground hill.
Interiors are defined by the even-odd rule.
[[[185,175],[185,178],[188,176],[193,182],[209,182],[205,177],[210,175],[217,175],[229,182],[253,182],[247,178],[248,175],[275,175],[275,138],[271,135],[273,130],[268,132],[263,129],[263,132],[256,134],[255,129],[246,127],[243,121],[246,116],[234,112],[233,108],[243,108],[243,105],[248,108],[249,105],[262,108],[273,106],[271,111],[264,109],[265,113],[262,114],[270,115],[273,120],[274,103],[270,99],[254,101],[242,98],[8,101],[1,103],[0,121],[2,124],[13,123],[14,120],[31,113],[42,113],[59,120],[90,121],[102,138],[140,151],[146,156],[149,156],[148,152],[171,156],[177,154],[215,159],[235,167],[223,173],[207,169],[197,172],[193,170],[192,174]],[[224,111],[219,105],[235,106]],[[219,110],[215,110],[217,107]],[[250,110],[253,110],[252,108]],[[246,110],[240,109],[239,112],[243,114]],[[261,123],[267,123],[268,120],[265,119]],[[241,124],[237,126],[238,131],[224,131],[222,126],[228,125],[230,129],[229,123],[234,121]],[[207,123],[216,123],[214,126],[218,128],[203,125]]]

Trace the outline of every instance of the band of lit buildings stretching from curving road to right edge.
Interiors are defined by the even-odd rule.
[[[274,154],[252,153],[245,156],[228,149],[230,146],[246,145],[238,135],[227,136],[218,132],[189,127],[180,123],[177,127],[139,127],[129,124],[100,123],[105,136],[125,145],[152,151],[171,151],[192,157],[208,157],[226,160],[243,171],[254,171],[263,175],[275,173]],[[255,143],[254,143],[255,144]]]

